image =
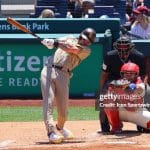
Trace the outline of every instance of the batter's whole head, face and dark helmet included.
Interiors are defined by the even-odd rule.
[[[96,31],[92,28],[86,28],[83,30],[79,36],[79,40],[83,41],[83,45],[90,45],[95,42],[96,39]]]

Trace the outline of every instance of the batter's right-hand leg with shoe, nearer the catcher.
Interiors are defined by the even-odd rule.
[[[58,70],[59,72],[59,70]],[[72,139],[71,131],[64,127],[68,117],[68,100],[69,100],[69,81],[68,73],[61,73],[56,80],[56,104],[58,111],[57,129],[64,136],[64,139]]]

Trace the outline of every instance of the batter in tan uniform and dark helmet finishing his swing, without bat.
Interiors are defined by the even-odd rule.
[[[41,72],[44,121],[50,143],[61,143],[63,139],[73,138],[72,132],[64,128],[68,113],[69,80],[72,70],[90,55],[89,46],[95,38],[95,30],[86,28],[79,38],[68,36],[59,40],[42,41],[49,49],[57,48],[54,56],[48,58]],[[56,125],[53,122],[54,99],[58,111]]]

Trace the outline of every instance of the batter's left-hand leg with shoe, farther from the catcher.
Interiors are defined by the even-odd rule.
[[[41,89],[43,97],[44,122],[51,143],[61,143],[63,137],[56,133],[53,122],[55,86],[51,78],[51,68],[44,67],[41,72]]]

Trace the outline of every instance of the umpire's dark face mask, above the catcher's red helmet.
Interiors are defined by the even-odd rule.
[[[134,48],[134,44],[128,37],[120,37],[113,44],[114,48],[118,51],[118,55],[121,59],[126,60],[130,54],[130,51]]]

